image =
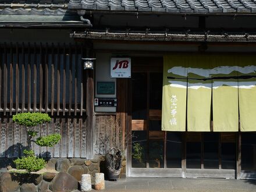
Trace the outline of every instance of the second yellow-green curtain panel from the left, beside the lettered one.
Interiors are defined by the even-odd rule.
[[[189,59],[187,84],[187,131],[211,131],[211,62],[205,56]]]

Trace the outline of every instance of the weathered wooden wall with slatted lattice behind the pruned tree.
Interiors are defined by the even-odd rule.
[[[12,122],[18,112],[48,113],[52,122],[35,127],[38,136],[62,136],[53,148],[33,145],[36,154],[92,157],[86,95],[93,76],[81,65],[84,47],[82,43],[0,44],[0,157],[19,157],[26,146],[25,128]]]

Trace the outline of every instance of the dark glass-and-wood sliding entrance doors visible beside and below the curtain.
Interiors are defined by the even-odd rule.
[[[133,59],[130,83],[132,137],[128,176],[234,179],[237,133],[162,131],[163,61],[142,60]]]

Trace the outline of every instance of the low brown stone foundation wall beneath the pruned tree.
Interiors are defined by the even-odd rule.
[[[7,161],[7,160],[6,160]],[[95,173],[100,172],[102,157],[94,159],[50,159],[45,168],[49,172],[41,175],[32,173],[10,173],[6,168],[0,172],[0,192],[55,192],[80,190],[82,174],[90,174],[92,184]],[[4,161],[2,161],[3,163]],[[10,165],[11,161],[9,161]],[[5,162],[6,164],[6,162]],[[1,162],[0,162],[1,165]],[[57,170],[59,173],[51,172]],[[63,185],[63,183],[65,183]]]

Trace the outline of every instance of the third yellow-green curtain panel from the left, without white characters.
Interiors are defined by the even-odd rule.
[[[214,131],[238,131],[238,83],[236,56],[218,55],[212,69]]]

